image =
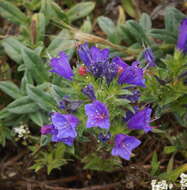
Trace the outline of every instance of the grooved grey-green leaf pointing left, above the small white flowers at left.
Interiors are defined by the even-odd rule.
[[[7,107],[11,113],[26,114],[38,111],[39,107],[28,96],[23,96],[11,102]]]

